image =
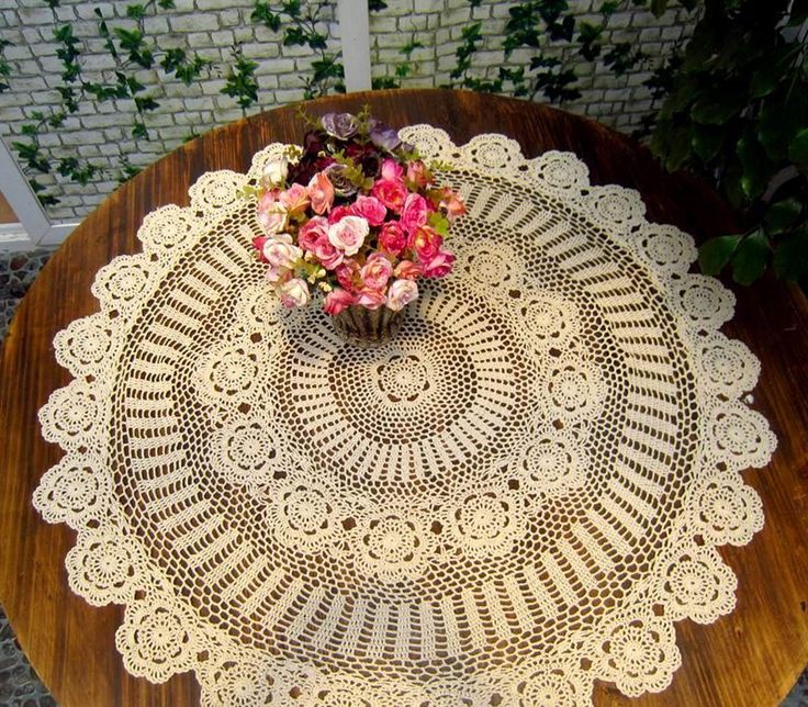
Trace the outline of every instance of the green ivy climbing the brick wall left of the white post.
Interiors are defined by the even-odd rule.
[[[53,148],[43,147],[42,135],[64,130],[71,117],[77,117],[82,106],[100,105],[110,101],[130,102],[134,108],[130,134],[134,150],[142,152],[152,138],[149,116],[160,109],[162,83],[178,79],[184,86],[199,83],[215,71],[225,79],[221,92],[232,98],[243,112],[259,100],[259,83],[256,75],[258,64],[245,55],[240,44],[229,50],[231,63],[216,66],[210,59],[189,47],[171,46],[162,48],[160,42],[166,35],[156,37],[146,31],[146,20],[160,12],[175,9],[173,0],[147,0],[124,7],[125,18],[115,19],[109,10],[97,8],[97,37],[111,59],[112,68],[101,72],[101,78],[89,80],[85,77],[83,60],[89,38],[80,38],[70,22],[60,22],[57,14],[60,0],[42,0],[50,8],[54,18],[53,37],[57,44],[56,57],[60,63],[60,83],[55,87],[58,104],[30,113],[29,122],[21,128],[19,139],[11,143],[20,164],[29,176],[32,189],[44,205],[58,203],[58,198],[49,193],[42,176],[58,173],[79,184],[93,179],[108,178],[109,168],[75,155],[55,156]],[[383,2],[372,3],[374,9],[383,9]],[[285,0],[273,5],[257,0],[251,20],[265,24],[273,31],[282,31],[284,46],[306,46],[313,54],[311,72],[303,72],[301,86],[307,98],[324,96],[329,91],[344,91],[344,69],[338,53],[327,50],[327,26],[325,11],[333,7],[329,0],[310,1]],[[12,65],[5,59],[4,49],[10,43],[0,40],[0,93],[10,89]],[[142,70],[158,72],[158,83],[146,86],[138,78]],[[202,94],[202,88],[199,88]],[[125,110],[125,109],[124,109]],[[193,128],[186,139],[197,136]],[[64,148],[61,148],[64,153]],[[139,169],[134,166],[130,155],[119,157],[119,181],[135,176]]]

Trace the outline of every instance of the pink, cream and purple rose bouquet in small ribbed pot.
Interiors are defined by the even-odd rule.
[[[436,184],[446,166],[427,166],[367,109],[306,120],[303,147],[268,164],[255,190],[254,246],[284,306],[318,295],[344,338],[382,344],[418,280],[451,271],[444,238],[463,202]]]

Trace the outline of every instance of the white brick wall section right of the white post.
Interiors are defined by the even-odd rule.
[[[502,42],[508,10],[514,2],[483,0],[479,8],[471,8],[468,0],[385,0],[388,9],[383,16],[371,15],[371,63],[372,75],[393,77],[395,67],[405,58],[401,48],[411,40],[420,42],[425,48],[413,53],[415,71],[404,79],[406,87],[438,87],[449,85],[450,71],[457,65],[454,53],[461,44],[464,26],[482,22],[483,42],[473,56],[471,74],[476,78],[495,79],[501,66],[518,68],[529,65],[535,52],[528,48],[515,50],[504,59]],[[593,24],[601,21],[598,0],[571,0],[579,21]],[[412,9],[415,13],[413,14]],[[594,8],[594,9],[593,9]],[[395,19],[395,24],[390,22]],[[599,58],[594,64],[577,56],[579,45],[565,46],[562,50],[550,49],[548,55],[559,56],[579,76],[576,88],[582,96],[575,101],[562,103],[561,108],[573,113],[588,115],[618,130],[631,132],[650,109],[650,92],[642,86],[664,56],[670,54],[676,42],[692,32],[693,24],[687,12],[678,5],[672,7],[663,16],[654,18],[647,9],[637,8],[618,12],[609,18],[603,33],[604,53],[613,43],[630,42],[650,56],[646,67],[637,66],[627,76],[616,77]],[[577,34],[577,33],[576,33]],[[563,43],[561,43],[563,45]],[[437,67],[437,68],[436,68]],[[529,76],[529,72],[528,72]],[[506,85],[507,88],[507,85]],[[538,101],[543,97],[538,94]]]

